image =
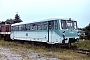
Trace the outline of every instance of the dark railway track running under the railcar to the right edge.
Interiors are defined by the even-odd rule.
[[[44,46],[44,47],[48,47],[48,48],[61,48],[61,49],[65,49],[65,50],[73,50],[73,51],[76,51],[77,53],[81,53],[81,54],[87,54],[87,55],[90,55],[90,50],[85,50],[85,49],[80,49],[80,48],[77,48],[77,46],[59,46],[59,45],[49,45],[49,44],[43,44],[43,43],[37,43],[37,42],[29,42],[29,41],[19,41],[19,40],[14,40],[12,42],[16,42],[16,43],[20,43],[20,44],[24,44],[24,43],[27,43],[27,44],[33,44],[35,46]]]

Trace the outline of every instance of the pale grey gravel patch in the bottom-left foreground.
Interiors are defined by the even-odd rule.
[[[52,52],[48,52],[52,54]],[[0,60],[60,60],[58,58],[47,58],[42,53],[32,50],[19,50],[16,48],[0,47]]]

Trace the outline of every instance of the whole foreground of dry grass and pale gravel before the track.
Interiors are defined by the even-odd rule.
[[[90,60],[90,56],[71,49],[0,40],[0,60]]]

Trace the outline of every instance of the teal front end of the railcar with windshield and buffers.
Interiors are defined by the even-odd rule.
[[[77,21],[73,20],[61,20],[61,31],[62,31],[62,43],[68,40],[68,43],[77,42],[79,39],[77,30]]]

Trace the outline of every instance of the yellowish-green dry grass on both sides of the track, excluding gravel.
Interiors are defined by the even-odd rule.
[[[90,49],[90,41],[89,40],[80,40],[78,43],[74,43],[78,48]],[[85,54],[77,53],[73,50],[69,49],[61,49],[61,48],[46,48],[45,46],[36,46],[28,43],[16,43],[10,41],[0,40],[0,47],[11,48],[12,53],[39,53],[40,57],[48,57],[48,58],[58,58],[61,60],[90,60],[90,56]],[[23,52],[23,54],[25,54]]]

